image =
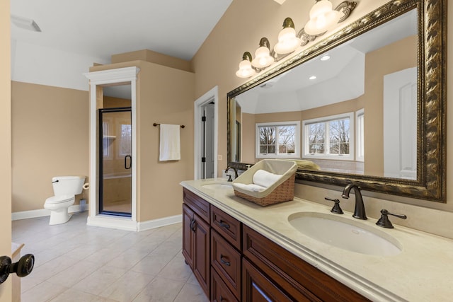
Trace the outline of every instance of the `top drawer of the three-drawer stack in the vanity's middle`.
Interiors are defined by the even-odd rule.
[[[235,248],[241,250],[242,223],[224,211],[211,206],[211,226]]]

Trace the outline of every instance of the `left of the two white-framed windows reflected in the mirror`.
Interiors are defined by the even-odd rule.
[[[257,154],[263,157],[298,157],[299,122],[256,124]]]

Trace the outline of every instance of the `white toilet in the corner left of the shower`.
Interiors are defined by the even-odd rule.
[[[45,199],[44,203],[44,209],[50,210],[49,224],[51,226],[65,223],[71,218],[68,209],[74,204],[75,195],[81,194],[84,182],[84,176],[55,176],[52,178],[55,196]]]

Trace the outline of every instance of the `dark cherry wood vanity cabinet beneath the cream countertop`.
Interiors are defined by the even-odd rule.
[[[211,301],[369,301],[186,189],[183,255]]]

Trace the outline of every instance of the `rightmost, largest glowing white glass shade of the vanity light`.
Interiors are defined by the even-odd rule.
[[[304,30],[309,35],[320,35],[338,23],[341,18],[339,11],[332,9],[332,2],[318,0],[310,10],[310,20],[306,23]]]

